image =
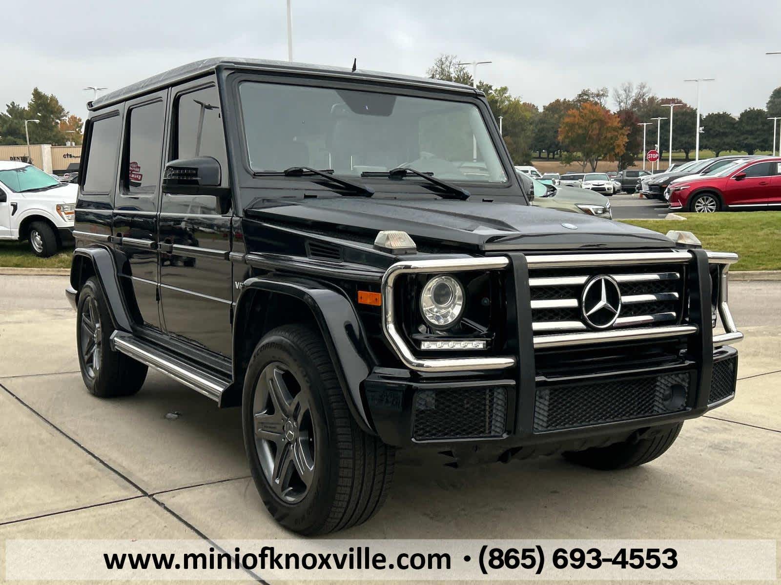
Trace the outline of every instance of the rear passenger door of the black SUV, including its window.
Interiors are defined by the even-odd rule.
[[[119,186],[114,201],[116,249],[127,257],[135,304],[144,325],[162,328],[158,312],[160,176],[168,90],[127,103]]]

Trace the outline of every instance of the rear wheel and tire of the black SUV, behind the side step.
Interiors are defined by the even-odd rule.
[[[133,395],[141,389],[147,367],[111,349],[114,326],[103,291],[94,276],[81,287],[76,317],[76,350],[81,378],[100,398]]]

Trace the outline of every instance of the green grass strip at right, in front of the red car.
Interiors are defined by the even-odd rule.
[[[667,233],[694,233],[706,250],[737,252],[733,270],[781,270],[781,211],[738,211],[714,214],[684,213],[686,222],[628,219],[626,223]]]

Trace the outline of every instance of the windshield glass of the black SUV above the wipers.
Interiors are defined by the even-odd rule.
[[[254,81],[239,94],[255,172],[305,166],[357,177],[404,166],[437,179],[507,181],[472,103]]]

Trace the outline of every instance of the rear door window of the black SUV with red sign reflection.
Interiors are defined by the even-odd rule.
[[[162,101],[130,109],[122,168],[125,197],[154,196],[160,183],[163,116]]]

